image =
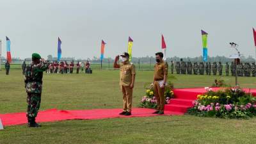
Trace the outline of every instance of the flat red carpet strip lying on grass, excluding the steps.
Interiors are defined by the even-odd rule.
[[[36,122],[54,122],[60,120],[95,120],[102,118],[126,118],[126,117],[144,117],[157,116],[152,114],[154,109],[134,108],[131,116],[118,115],[122,109],[91,109],[91,110],[58,110],[49,109],[40,111],[36,118]],[[183,115],[183,113],[165,111],[164,115]],[[3,125],[19,125],[26,124],[26,113],[8,113],[0,114]]]

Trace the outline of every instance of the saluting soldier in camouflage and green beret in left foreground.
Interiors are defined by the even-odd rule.
[[[29,127],[40,127],[36,124],[35,118],[40,108],[43,72],[47,70],[47,67],[46,61],[41,59],[39,54],[32,54],[32,63],[26,68],[24,81],[28,93],[27,117]]]

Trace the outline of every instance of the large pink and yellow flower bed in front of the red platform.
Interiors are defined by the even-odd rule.
[[[209,90],[197,95],[188,113],[218,118],[250,118],[256,116],[256,98],[241,88],[227,88],[218,92]]]

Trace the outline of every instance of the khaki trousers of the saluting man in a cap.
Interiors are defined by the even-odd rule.
[[[123,93],[123,111],[132,111],[132,89],[130,86],[121,86]]]

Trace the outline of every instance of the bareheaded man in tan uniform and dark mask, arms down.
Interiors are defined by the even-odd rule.
[[[164,87],[167,81],[168,64],[163,61],[163,52],[156,53],[156,65],[154,66],[154,96],[157,99],[157,111],[155,114],[164,114]]]

